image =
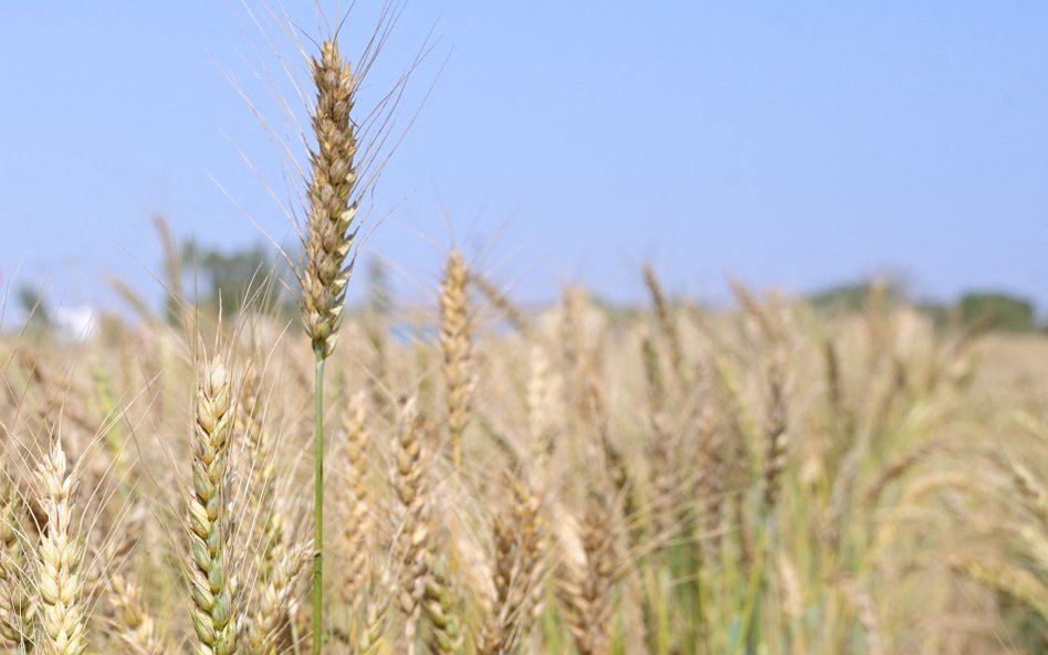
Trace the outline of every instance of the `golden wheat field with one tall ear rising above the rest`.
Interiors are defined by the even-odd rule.
[[[1048,340],[651,267],[525,309],[454,249],[347,308],[369,144],[312,56],[298,316],[176,266],[174,320],[0,338],[6,652],[1048,653]]]

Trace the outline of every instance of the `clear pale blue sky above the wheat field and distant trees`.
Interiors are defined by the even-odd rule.
[[[357,0],[346,52],[377,2]],[[317,24],[312,1],[284,7]],[[637,298],[650,260],[706,298],[730,274],[803,290],[887,272],[1048,306],[1048,3],[412,0],[368,98],[431,29],[402,122],[436,84],[367,249],[406,294],[426,297],[453,239],[527,299],[575,281]],[[81,304],[111,303],[115,273],[159,298],[154,213],[263,239],[212,177],[290,240],[240,155],[283,193],[227,75],[280,123],[253,49],[238,0],[3,2],[4,276]]]

